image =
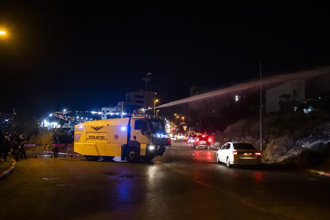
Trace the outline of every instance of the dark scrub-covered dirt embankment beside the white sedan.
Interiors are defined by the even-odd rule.
[[[262,121],[264,163],[317,166],[330,158],[330,114],[325,112],[267,115]],[[218,145],[243,141],[260,145],[259,120],[244,119],[215,137]]]

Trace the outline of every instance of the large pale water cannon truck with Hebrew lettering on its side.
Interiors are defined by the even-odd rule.
[[[74,125],[74,151],[86,160],[121,160],[137,162],[162,156],[171,144],[166,135],[165,121],[147,115],[132,115],[87,121]]]

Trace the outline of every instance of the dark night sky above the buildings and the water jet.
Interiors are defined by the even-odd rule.
[[[0,111],[91,110],[146,72],[163,104],[258,78],[259,60],[264,75],[330,64],[326,9],[126,6],[1,2]]]

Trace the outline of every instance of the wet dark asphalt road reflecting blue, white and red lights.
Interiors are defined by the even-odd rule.
[[[227,168],[173,141],[153,163],[29,158],[0,181],[1,219],[330,219],[330,178]]]

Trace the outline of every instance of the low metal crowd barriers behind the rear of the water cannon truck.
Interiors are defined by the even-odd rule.
[[[63,155],[63,157],[66,157],[67,155],[77,154],[73,151],[73,143],[25,144],[24,147],[28,155]]]

